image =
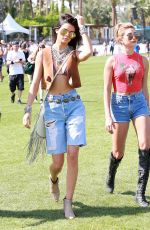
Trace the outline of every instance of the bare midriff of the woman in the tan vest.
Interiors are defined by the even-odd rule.
[[[69,84],[68,77],[65,75],[59,75],[53,81],[51,88],[49,90],[49,94],[51,95],[65,94],[72,89],[73,88]]]

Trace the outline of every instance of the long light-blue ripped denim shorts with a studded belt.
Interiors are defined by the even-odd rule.
[[[48,95],[45,100],[48,154],[67,152],[67,145],[86,145],[85,107],[76,90]]]

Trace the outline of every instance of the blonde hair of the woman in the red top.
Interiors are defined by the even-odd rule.
[[[122,39],[122,36],[124,35],[125,30],[129,28],[134,29],[133,24],[130,22],[118,23],[115,26],[114,37],[115,37],[116,42],[118,43],[121,42],[121,39]]]

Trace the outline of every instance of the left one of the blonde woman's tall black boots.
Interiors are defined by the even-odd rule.
[[[113,193],[114,191],[114,183],[115,183],[115,175],[117,172],[117,168],[121,162],[121,159],[114,158],[113,154],[110,154],[109,158],[109,168],[108,168],[108,175],[106,179],[106,189],[107,192]]]

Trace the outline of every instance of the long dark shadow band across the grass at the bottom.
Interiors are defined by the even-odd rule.
[[[94,207],[88,206],[81,202],[73,202],[73,210],[78,218],[92,218],[102,216],[112,216],[118,218],[125,215],[137,215],[143,213],[149,213],[150,207]],[[0,217],[3,218],[30,218],[37,220],[34,226],[41,225],[45,222],[56,221],[64,219],[63,210],[31,210],[31,211],[11,211],[11,210],[0,210]],[[31,224],[32,225],[32,224]],[[30,226],[31,226],[30,225]],[[32,226],[33,226],[32,225]]]

